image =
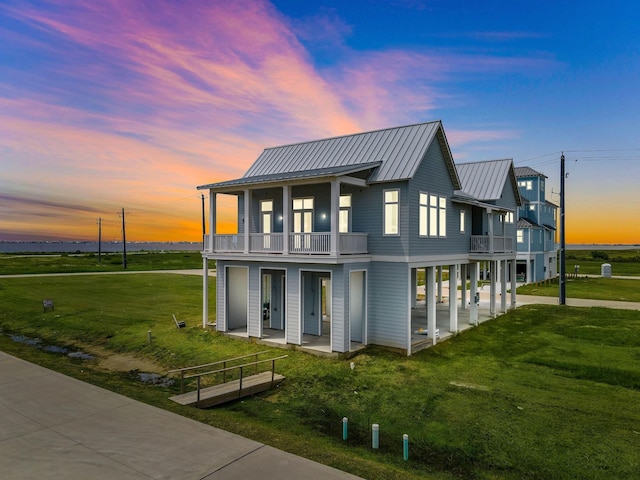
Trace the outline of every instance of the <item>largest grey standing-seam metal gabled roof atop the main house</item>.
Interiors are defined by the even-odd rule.
[[[243,178],[380,162],[368,178],[369,183],[408,180],[413,178],[436,139],[454,188],[459,189],[458,174],[440,121],[267,148]]]

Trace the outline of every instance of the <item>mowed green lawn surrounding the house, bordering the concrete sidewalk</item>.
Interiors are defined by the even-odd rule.
[[[334,360],[274,349],[289,354],[277,390],[207,411],[169,402],[176,386],[105,374],[95,362],[7,336],[100,345],[166,370],[265,350],[203,330],[201,295],[198,276],[0,278],[0,348],[364,478],[638,478],[637,311],[522,307],[412,357],[370,348]],[[43,312],[44,298],[54,311]],[[176,329],[172,313],[187,328]],[[376,452],[372,423],[381,432]]]

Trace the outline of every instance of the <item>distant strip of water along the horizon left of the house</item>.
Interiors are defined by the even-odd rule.
[[[127,252],[200,251],[201,242],[127,242]],[[122,252],[122,242],[102,242],[103,253]],[[0,242],[0,253],[98,253],[98,242]]]

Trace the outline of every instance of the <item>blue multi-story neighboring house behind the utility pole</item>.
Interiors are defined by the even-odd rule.
[[[518,210],[518,280],[531,283],[554,278],[558,271],[558,207],[545,198],[547,177],[529,167],[517,167],[515,172],[524,200]]]

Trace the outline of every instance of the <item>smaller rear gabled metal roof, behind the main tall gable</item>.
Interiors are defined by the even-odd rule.
[[[505,183],[508,181],[516,195],[516,204],[522,205],[518,184],[513,172],[513,161],[487,160],[483,162],[459,163],[458,175],[462,188],[457,194],[466,194],[484,202],[500,199]]]

